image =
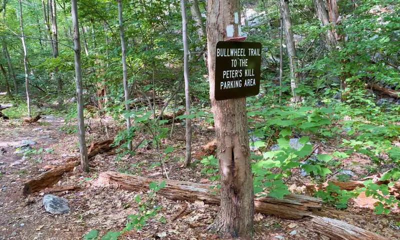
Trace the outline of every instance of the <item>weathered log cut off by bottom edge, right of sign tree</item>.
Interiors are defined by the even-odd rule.
[[[328,236],[331,240],[387,240],[371,231],[329,217],[313,216],[311,228],[319,234]]]

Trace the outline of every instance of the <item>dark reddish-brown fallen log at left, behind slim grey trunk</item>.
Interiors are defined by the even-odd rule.
[[[113,147],[109,146],[110,143],[112,143],[112,140],[92,143],[88,149],[88,159],[92,158],[98,153],[103,153],[111,150]],[[77,156],[67,158],[66,164],[56,166],[51,170],[43,172],[35,178],[26,181],[23,184],[23,195],[27,196],[30,193],[38,192],[41,189],[54,185],[55,183],[57,183],[57,181],[59,181],[59,179],[61,179],[64,172],[71,171],[75,166],[78,166],[79,164],[80,161]]]

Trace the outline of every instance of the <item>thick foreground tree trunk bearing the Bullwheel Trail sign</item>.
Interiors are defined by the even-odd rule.
[[[209,93],[221,175],[220,209],[209,229],[246,237],[253,235],[254,212],[246,99],[216,101],[214,97],[216,43],[238,36],[239,7],[239,0],[207,0]]]

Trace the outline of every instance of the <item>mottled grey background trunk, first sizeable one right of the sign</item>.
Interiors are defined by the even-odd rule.
[[[301,100],[301,96],[297,95],[295,89],[298,86],[299,73],[297,70],[297,57],[296,49],[294,46],[293,31],[291,28],[290,10],[287,5],[288,0],[279,0],[280,5],[280,17],[283,20],[284,33],[286,37],[286,48],[287,56],[289,57],[289,67],[290,67],[290,88],[292,94],[292,101],[298,102]]]

